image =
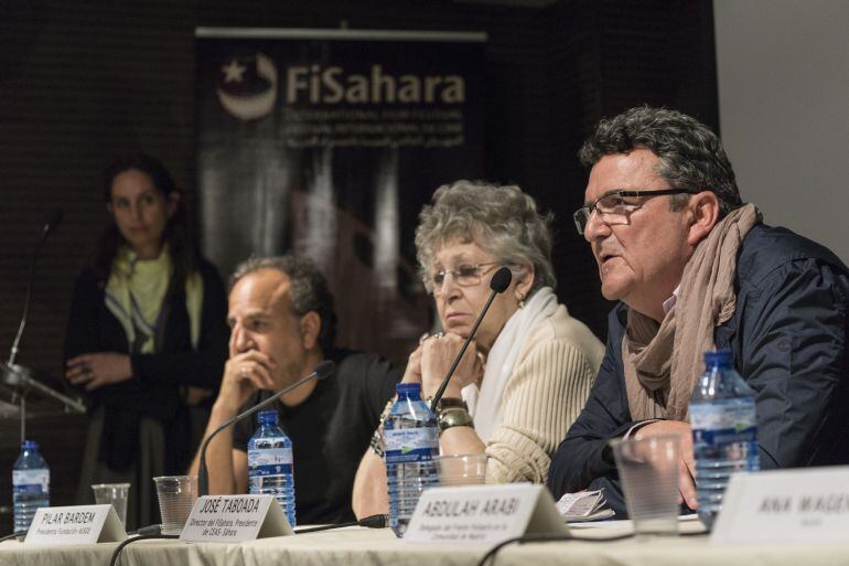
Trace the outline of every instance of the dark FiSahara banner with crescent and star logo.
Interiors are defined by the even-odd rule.
[[[338,345],[401,361],[429,330],[413,232],[483,170],[482,33],[196,30],[205,254],[228,274],[295,252],[335,296]]]

